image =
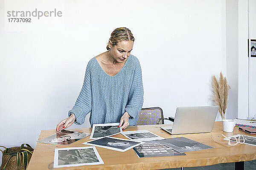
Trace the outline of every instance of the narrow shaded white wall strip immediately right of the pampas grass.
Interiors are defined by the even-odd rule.
[[[226,119],[238,113],[238,0],[226,0],[227,18],[227,81],[230,85]]]

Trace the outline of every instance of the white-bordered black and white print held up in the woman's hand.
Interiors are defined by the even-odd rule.
[[[118,127],[119,123],[93,124],[90,139],[99,139],[102,137],[116,135],[122,132],[122,127]]]

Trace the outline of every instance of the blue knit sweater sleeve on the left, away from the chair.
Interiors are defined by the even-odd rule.
[[[92,110],[91,70],[89,63],[86,67],[84,83],[81,92],[76,100],[74,107],[68,112],[68,116],[70,116],[72,113],[74,113],[76,116],[76,125],[82,125],[84,123],[85,116]]]

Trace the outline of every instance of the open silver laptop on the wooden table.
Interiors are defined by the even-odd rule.
[[[170,134],[212,132],[218,106],[177,107],[172,126],[160,127]]]

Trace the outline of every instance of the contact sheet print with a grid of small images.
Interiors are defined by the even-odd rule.
[[[172,148],[161,144],[157,141],[145,142],[133,148],[139,158],[141,157],[154,157],[154,156],[181,156],[186,155],[180,153]]]

